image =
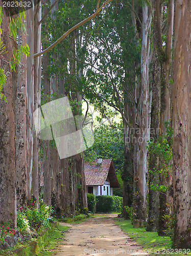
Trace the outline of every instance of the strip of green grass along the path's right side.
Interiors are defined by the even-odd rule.
[[[170,237],[159,237],[157,232],[146,231],[145,227],[134,228],[130,220],[117,218],[115,224],[120,226],[128,236],[141,245],[142,250],[147,250],[152,255],[191,255],[190,249],[172,249]]]

